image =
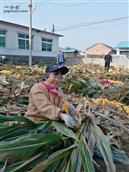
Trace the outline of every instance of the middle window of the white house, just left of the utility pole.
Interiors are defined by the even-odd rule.
[[[29,49],[29,35],[19,33],[18,45],[19,45],[19,49]]]

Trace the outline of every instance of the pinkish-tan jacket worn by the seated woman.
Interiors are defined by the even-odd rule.
[[[60,96],[50,93],[42,84],[35,84],[30,91],[27,113],[25,116],[33,121],[45,119],[59,120],[65,97],[59,90]]]

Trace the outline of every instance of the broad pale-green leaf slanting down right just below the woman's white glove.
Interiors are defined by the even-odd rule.
[[[52,122],[52,125],[55,127],[58,133],[79,141],[77,135],[71,129],[67,128],[64,124],[61,124],[59,122]]]

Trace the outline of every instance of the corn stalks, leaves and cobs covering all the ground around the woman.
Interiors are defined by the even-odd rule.
[[[111,68],[109,73],[104,73],[102,67],[91,64],[69,68],[70,72],[61,87],[77,107],[80,127],[76,131],[60,122],[33,124],[24,118],[29,90],[34,83],[43,79],[45,66],[0,67],[0,153],[3,155],[1,168],[5,165],[5,172],[54,172],[57,169],[62,172],[71,169],[75,172],[91,172],[94,168],[101,171],[101,163],[97,164],[96,157],[103,157],[107,171],[115,172],[111,156],[115,162],[121,162],[121,166],[124,164],[122,168],[127,172],[129,71]],[[24,129],[17,125],[21,121],[25,122]],[[37,139],[37,145],[33,139]],[[50,150],[47,147],[47,151],[43,149],[44,140],[51,146]],[[24,147],[26,144],[28,148]],[[32,152],[27,152],[28,149]],[[59,163],[61,161],[62,166]],[[119,170],[117,167],[116,171]]]

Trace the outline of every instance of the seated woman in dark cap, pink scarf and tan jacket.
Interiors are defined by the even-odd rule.
[[[25,116],[33,121],[63,120],[67,127],[76,124],[76,110],[63,94],[59,84],[69,69],[58,64],[49,64],[45,71],[45,81],[35,84],[30,90],[29,104]],[[74,109],[74,115],[64,113],[63,105],[68,103]]]

